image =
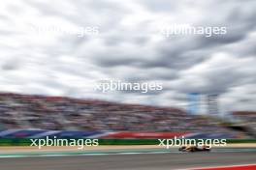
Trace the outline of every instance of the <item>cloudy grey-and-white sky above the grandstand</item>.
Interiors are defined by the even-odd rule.
[[[0,90],[178,107],[197,92],[218,94],[226,111],[256,110],[255,9],[254,0],[5,1]],[[227,34],[161,32],[182,24]],[[93,88],[103,79],[157,81],[163,90],[104,94]]]

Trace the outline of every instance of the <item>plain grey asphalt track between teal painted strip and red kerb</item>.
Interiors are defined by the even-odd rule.
[[[1,170],[170,170],[256,163],[256,152],[26,156],[0,158]]]

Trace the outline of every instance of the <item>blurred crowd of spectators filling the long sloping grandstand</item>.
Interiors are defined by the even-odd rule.
[[[0,94],[0,128],[228,132],[177,108],[102,100]]]

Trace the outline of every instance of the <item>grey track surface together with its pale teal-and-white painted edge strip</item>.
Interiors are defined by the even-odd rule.
[[[0,169],[12,170],[170,170],[255,163],[256,148],[216,148],[199,153],[130,149],[0,154]]]

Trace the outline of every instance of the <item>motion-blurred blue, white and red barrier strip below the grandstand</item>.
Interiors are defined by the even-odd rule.
[[[245,136],[232,133],[207,133],[207,132],[185,132],[185,131],[80,131],[80,130],[48,130],[48,129],[2,129],[0,138],[92,138],[97,136],[101,139],[170,139],[174,137],[191,139],[244,139]]]

